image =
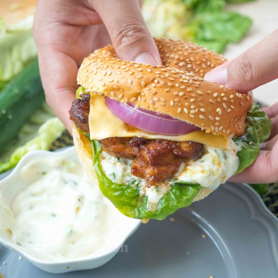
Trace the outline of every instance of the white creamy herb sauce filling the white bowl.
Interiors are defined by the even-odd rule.
[[[84,176],[79,162],[38,159],[23,168],[21,180],[30,185],[10,207],[0,197],[1,232],[11,241],[51,260],[80,258],[103,248],[119,213]]]

